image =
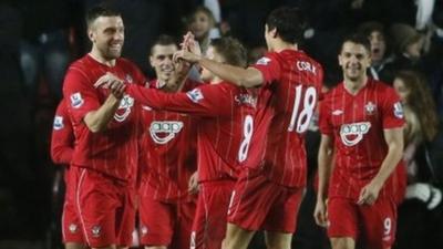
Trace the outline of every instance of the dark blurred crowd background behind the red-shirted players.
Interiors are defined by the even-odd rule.
[[[66,68],[90,50],[85,10],[100,2],[111,2],[122,11],[123,56],[148,76],[153,75],[151,42],[162,33],[181,40],[192,30],[203,46],[210,38],[233,35],[249,48],[254,62],[266,51],[267,13],[287,4],[303,8],[307,23],[300,48],[322,63],[324,84],[332,87],[341,80],[337,62],[341,39],[356,30],[365,33],[373,56],[369,73],[392,84],[399,72],[412,72],[412,81],[425,89],[413,101],[421,105],[431,100],[433,104],[424,108],[433,108],[440,121],[436,135],[427,137],[423,132],[422,138],[414,139],[410,157],[416,170],[411,173],[410,193],[400,208],[396,248],[443,248],[443,205],[431,195],[435,191],[422,194],[424,187],[442,189],[443,179],[443,1],[439,0],[1,0],[0,248],[13,248],[8,241],[60,248],[63,186],[61,170],[49,154],[52,118]],[[209,15],[195,12],[202,6],[210,10]],[[421,129],[426,131],[426,125],[422,123]],[[318,139],[312,125],[309,179],[315,178]],[[312,193],[310,185],[293,248],[327,247],[323,231],[312,220]]]

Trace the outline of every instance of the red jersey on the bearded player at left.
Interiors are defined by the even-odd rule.
[[[109,90],[93,86],[106,72],[127,83],[145,84],[142,72],[125,59],[117,59],[114,66],[107,66],[85,55],[69,68],[63,95],[75,135],[72,165],[87,167],[117,179],[135,180],[141,106],[137,106],[134,98],[128,95],[122,98],[104,132],[92,133],[83,121],[87,113],[96,111],[111,94]]]

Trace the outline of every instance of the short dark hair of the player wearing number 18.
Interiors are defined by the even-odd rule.
[[[280,7],[272,10],[266,19],[269,30],[277,29],[285,42],[299,43],[306,28],[305,17],[299,8]]]

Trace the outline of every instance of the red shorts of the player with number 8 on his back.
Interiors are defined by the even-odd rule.
[[[226,236],[226,218],[234,180],[200,184],[190,235],[190,249],[219,249]]]

